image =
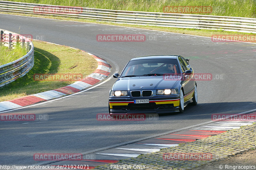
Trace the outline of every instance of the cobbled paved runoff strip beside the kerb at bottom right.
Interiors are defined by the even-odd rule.
[[[97,166],[95,169],[106,170],[106,169],[138,169],[138,167],[133,168],[134,165],[142,165],[141,169],[147,170],[183,170],[183,169],[218,169],[220,164],[225,163],[225,160],[229,160],[232,157],[238,156],[237,154],[243,153],[250,150],[255,150],[256,148],[256,123],[252,125],[242,126],[239,129],[228,130],[225,133],[207,137],[204,139],[199,139],[194,142],[188,142],[180,144],[176,147],[164,148],[159,152],[153,152],[149,154],[142,154],[137,158],[123,159],[114,164],[108,164],[105,166]],[[253,152],[254,151],[250,151]],[[195,153],[205,153],[206,155],[212,155],[210,160],[170,160],[174,156],[174,153],[186,153],[185,155],[195,154]],[[192,153],[192,154],[191,154]],[[247,153],[247,152],[246,152]],[[168,154],[168,157],[163,157],[163,155]],[[170,155],[171,154],[171,155]],[[250,154],[250,153],[248,153]],[[241,154],[240,154],[241,155]],[[164,160],[169,159],[169,160]],[[180,157],[182,158],[182,157]],[[184,158],[184,157],[183,157]],[[185,157],[186,158],[186,157]],[[188,157],[187,157],[188,158]],[[190,157],[191,158],[191,157]],[[198,157],[199,158],[199,157]],[[237,159],[238,161],[241,159]],[[254,165],[256,166],[256,159],[254,159]],[[219,162],[218,162],[219,161]],[[222,161],[222,162],[220,162]],[[224,162],[223,162],[224,161]],[[244,160],[245,161],[245,160]],[[240,162],[240,166],[244,165],[244,161]],[[237,165],[237,161],[233,161]],[[232,161],[231,161],[232,163]],[[217,166],[218,164],[218,166]],[[228,162],[226,162],[228,164]],[[116,166],[115,166],[116,165]],[[117,166],[118,165],[118,166]],[[131,168],[128,166],[131,165]],[[214,165],[214,166],[212,166]],[[216,165],[216,166],[215,166]],[[231,164],[232,165],[232,164]],[[145,166],[145,167],[144,167]],[[115,168],[116,167],[116,168]],[[227,169],[225,166],[222,169]],[[238,169],[237,167],[235,169]],[[245,168],[246,169],[246,168]],[[248,168],[249,169],[249,168]],[[247,170],[248,170],[247,169]]]

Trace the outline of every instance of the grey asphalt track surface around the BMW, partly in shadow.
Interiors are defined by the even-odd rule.
[[[0,122],[1,165],[32,165],[40,163],[33,160],[34,153],[88,152],[207,122],[212,114],[236,114],[256,107],[256,44],[4,14],[0,14],[0,28],[100,56],[112,65],[111,76],[116,70],[120,73],[133,57],[163,54],[190,58],[196,73],[213,75],[211,81],[197,81],[197,106],[187,106],[182,114],[162,115],[158,120],[97,121],[96,114],[108,113],[114,78],[77,95],[8,112],[47,114],[49,120]],[[98,42],[97,34],[145,34],[147,40]],[[149,40],[152,37],[154,40]],[[220,75],[223,79],[216,79]]]

